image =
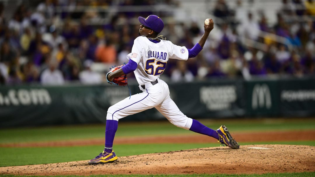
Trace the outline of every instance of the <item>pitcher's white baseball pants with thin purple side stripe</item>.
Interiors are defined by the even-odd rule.
[[[142,93],[123,99],[112,105],[107,110],[106,119],[119,120],[128,115],[140,113],[150,108],[156,108],[166,119],[177,127],[189,130],[192,119],[184,115],[169,96],[169,86],[163,80],[152,85],[145,84],[146,89],[139,86]]]

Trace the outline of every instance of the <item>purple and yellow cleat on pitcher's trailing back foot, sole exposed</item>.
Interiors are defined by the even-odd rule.
[[[227,130],[226,126],[221,125],[216,132],[219,135],[219,141],[221,144],[225,144],[232,149],[239,149],[238,143],[234,140],[234,138],[230,135],[229,131]]]

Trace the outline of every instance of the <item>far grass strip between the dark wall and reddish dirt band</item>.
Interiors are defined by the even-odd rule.
[[[200,122],[217,129],[226,125],[232,132],[246,131],[280,131],[280,130],[315,130],[315,119],[229,119],[207,120]],[[160,122],[121,122],[118,125],[116,137],[122,136],[158,136],[194,134],[167,121]],[[0,144],[33,141],[79,140],[104,138],[105,124],[103,125],[76,125],[37,128],[12,128],[0,130]]]

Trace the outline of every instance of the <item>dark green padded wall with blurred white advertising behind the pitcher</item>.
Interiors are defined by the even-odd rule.
[[[132,94],[140,93],[129,84]],[[315,116],[315,78],[169,83],[172,99],[192,118]],[[127,86],[1,86],[0,126],[105,123],[108,107],[129,97]],[[124,120],[164,119],[156,109]]]

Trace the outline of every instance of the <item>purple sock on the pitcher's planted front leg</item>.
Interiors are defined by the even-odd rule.
[[[105,149],[104,151],[107,153],[112,152],[113,142],[115,133],[118,128],[117,120],[106,120],[106,131],[105,131]]]

